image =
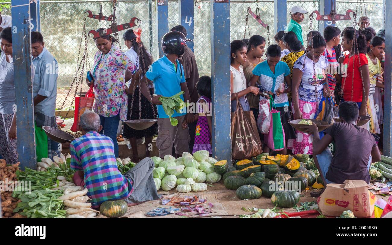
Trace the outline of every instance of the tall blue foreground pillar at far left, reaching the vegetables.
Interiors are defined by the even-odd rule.
[[[11,6],[18,157],[22,169],[25,167],[36,169],[31,82],[30,4],[29,0],[12,0]]]

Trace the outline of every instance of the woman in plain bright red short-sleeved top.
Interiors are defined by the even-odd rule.
[[[354,43],[356,35],[357,43]],[[366,36],[353,29],[345,29],[341,43],[344,51],[349,51],[343,64],[345,64],[345,77],[342,78],[342,101],[357,102],[359,115],[367,115],[367,100],[369,96],[369,70],[366,57]]]

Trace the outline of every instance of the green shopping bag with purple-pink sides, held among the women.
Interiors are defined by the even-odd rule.
[[[275,109],[272,108],[272,105]],[[267,146],[274,151],[283,150],[285,148],[285,131],[280,119],[280,111],[276,110],[272,97],[270,97],[270,118],[271,127],[268,134],[264,136],[267,139]]]

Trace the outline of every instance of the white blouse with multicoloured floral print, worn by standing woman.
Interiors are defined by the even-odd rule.
[[[120,113],[120,119],[127,120],[127,101],[125,93],[125,71],[138,70],[122,50],[112,45],[107,54],[97,51],[91,74],[94,76],[94,111],[100,116],[112,117]]]

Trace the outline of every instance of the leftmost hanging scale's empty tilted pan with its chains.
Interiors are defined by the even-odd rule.
[[[88,50],[87,50],[87,43],[88,43],[88,39],[87,39],[87,34],[86,34],[86,16],[84,16],[83,18],[83,29],[82,29],[82,36],[80,38],[80,44],[79,44],[79,50],[78,50],[78,57],[76,59],[76,73],[75,76],[73,78],[73,81],[71,83],[71,86],[67,92],[67,95],[64,98],[64,102],[62,104],[62,106],[60,107],[60,111],[62,111],[62,109],[64,108],[65,102],[67,101],[67,98],[69,97],[74,84],[75,84],[75,91],[74,91],[74,98],[76,97],[77,94],[83,93],[82,92],[82,84],[83,84],[83,80],[84,80],[84,70],[87,69],[88,67],[90,67],[90,62],[89,62],[89,58],[88,58]],[[84,48],[82,50],[82,43],[84,44]],[[82,58],[80,59],[80,55],[82,54]],[[86,64],[87,63],[87,64]],[[87,67],[85,66],[87,65]],[[79,90],[79,92],[78,92]],[[67,114],[65,114],[62,122],[60,124],[64,123],[65,118],[68,117],[69,112],[71,111],[71,107],[73,106],[74,100],[71,101],[71,105],[69,106],[69,109],[67,111]],[[79,101],[79,106],[80,106],[80,101]],[[56,141],[58,143],[70,143],[71,141],[73,141],[75,139],[74,136],[72,136],[71,134],[62,131],[61,129],[58,129],[58,127],[56,127],[56,122],[55,124],[51,127],[51,126],[43,126],[42,129],[45,131],[46,135],[52,139],[53,141]]]

